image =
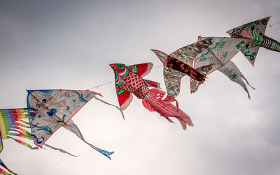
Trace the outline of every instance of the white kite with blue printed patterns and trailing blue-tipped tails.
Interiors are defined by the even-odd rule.
[[[71,118],[95,95],[100,95],[93,91],[80,90],[27,90],[27,106],[36,109],[36,115],[29,119],[31,132],[35,135],[34,144],[41,147],[43,145],[52,149],[67,153],[62,149],[45,144],[48,138],[60,127],[76,134],[86,144],[102,153],[107,158],[113,152],[105,151],[93,146],[85,141],[78,126]],[[70,153],[69,153],[70,154]]]

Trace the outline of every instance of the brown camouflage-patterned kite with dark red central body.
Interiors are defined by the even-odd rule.
[[[176,97],[180,92],[181,78],[185,75],[203,83],[211,65],[193,68],[193,60],[197,54],[206,50],[212,44],[211,38],[181,47],[172,54],[152,50],[164,65],[163,75],[168,96]]]

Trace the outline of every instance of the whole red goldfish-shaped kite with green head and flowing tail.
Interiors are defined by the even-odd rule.
[[[112,63],[111,68],[115,73],[115,86],[118,96],[120,109],[124,110],[130,105],[132,101],[132,93],[137,98],[142,99],[142,104],[146,109],[153,112],[158,112],[165,117],[167,121],[173,122],[169,117],[175,117],[186,130],[187,124],[193,125],[190,117],[179,109],[178,105],[175,107],[171,102],[176,101],[172,97],[165,96],[165,92],[159,90],[160,84],[151,80],[143,79],[145,75],[150,73],[153,68],[153,63],[141,63],[132,66],[125,66],[125,64]],[[149,87],[155,87],[149,89]]]

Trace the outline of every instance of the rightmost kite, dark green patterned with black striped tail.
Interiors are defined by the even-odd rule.
[[[280,52],[280,43],[265,36],[265,29],[269,18],[265,17],[227,31],[232,38],[248,38],[251,40],[250,43],[247,43],[241,48],[241,52],[252,65],[255,63],[255,57],[260,47]]]

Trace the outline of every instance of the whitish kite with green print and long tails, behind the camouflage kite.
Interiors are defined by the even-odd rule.
[[[199,40],[205,40],[208,37],[199,37]],[[244,45],[251,42],[245,38],[225,38],[225,37],[210,37],[212,38],[212,45],[207,50],[198,54],[195,57],[193,63],[194,68],[200,68],[202,66],[212,65],[211,69],[207,73],[213,73],[215,70],[219,70],[228,76],[233,82],[236,82],[244,88],[250,98],[246,84],[244,84],[242,78],[247,82],[247,79],[242,75],[235,63],[230,61]],[[190,79],[190,91],[195,93],[199,88],[201,82],[196,79]],[[251,86],[250,84],[248,84]],[[253,87],[252,87],[253,88]]]

